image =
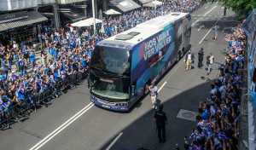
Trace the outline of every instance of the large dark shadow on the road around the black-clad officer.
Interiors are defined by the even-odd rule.
[[[164,112],[166,112],[169,122],[169,126],[166,127],[166,143],[158,142],[156,126],[153,124],[155,111],[150,109],[148,113],[145,113],[141,118],[138,118],[121,131],[123,135],[114,143],[111,149],[136,150],[143,147],[149,150],[171,150],[175,148],[176,143],[183,149],[183,137],[190,136],[192,128],[196,127],[196,122],[177,118],[177,113],[179,113],[180,109],[197,112],[199,102],[205,101],[207,98],[209,85],[206,81],[204,84],[183,91],[181,94],[163,103]],[[161,95],[163,93],[166,95],[166,93],[170,93],[172,90],[164,87],[161,90]],[[161,99],[161,96],[159,98]],[[109,138],[110,140],[100,149],[106,149],[116,136]]]

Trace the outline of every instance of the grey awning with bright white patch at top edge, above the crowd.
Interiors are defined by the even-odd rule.
[[[141,6],[139,4],[133,2],[132,0],[112,0],[109,2],[116,5],[116,7],[119,8],[124,13],[131,11],[133,9],[141,8]]]

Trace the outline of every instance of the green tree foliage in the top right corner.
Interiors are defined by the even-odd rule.
[[[245,19],[256,8],[255,0],[212,0],[212,2],[218,2],[222,6],[231,8],[238,14],[239,19]]]

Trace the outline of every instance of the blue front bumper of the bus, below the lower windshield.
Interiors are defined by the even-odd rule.
[[[108,105],[106,103],[102,103],[101,101],[97,101],[90,96],[90,101],[92,101],[96,106],[102,107],[108,110],[117,111],[117,112],[127,112],[129,111],[129,104],[126,106],[115,106],[115,105]]]

